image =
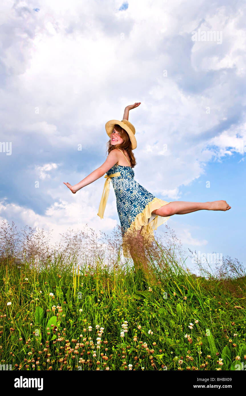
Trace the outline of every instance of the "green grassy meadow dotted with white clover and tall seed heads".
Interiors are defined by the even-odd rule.
[[[0,228],[0,364],[12,370],[246,369],[246,276],[236,259],[199,276],[156,239],[137,263],[120,232]],[[105,243],[107,240],[107,244]],[[176,249],[176,250],[175,250]],[[7,366],[4,366],[8,369]]]

